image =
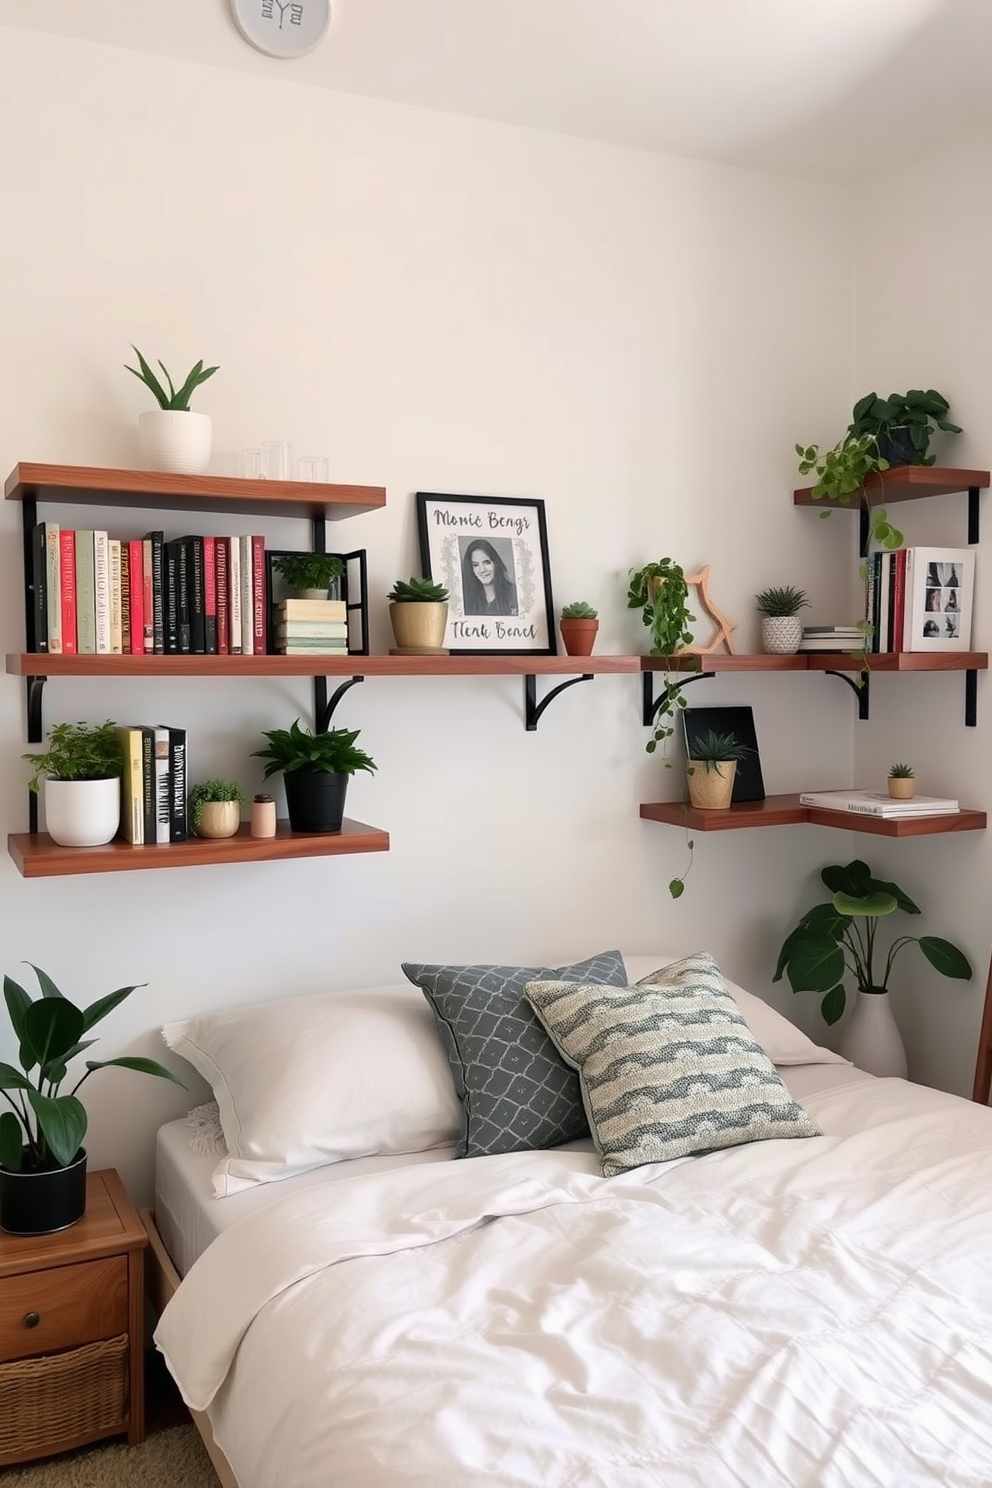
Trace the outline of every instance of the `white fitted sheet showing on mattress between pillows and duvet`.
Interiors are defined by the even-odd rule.
[[[848,1064],[794,1064],[778,1071],[794,1100],[803,1101],[817,1091],[834,1089],[852,1080],[870,1080],[873,1076]],[[570,1143],[570,1147],[590,1147],[590,1141]],[[341,1183],[364,1173],[381,1173],[387,1168],[406,1168],[424,1162],[448,1162],[454,1147],[433,1147],[430,1152],[410,1152],[379,1158],[354,1158],[351,1162],[333,1162],[311,1173],[286,1178],[283,1183],[263,1183],[257,1189],[216,1198],[213,1171],[216,1153],[193,1153],[189,1144],[186,1117],[167,1122],[159,1128],[155,1146],[155,1222],[181,1277],[204,1253],[207,1245],[239,1219],[253,1214],[287,1193],[303,1189]]]

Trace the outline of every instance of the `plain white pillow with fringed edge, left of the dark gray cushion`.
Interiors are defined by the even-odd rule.
[[[162,1036],[210,1083],[228,1153],[214,1193],[454,1141],[461,1109],[409,984],[220,1007]]]

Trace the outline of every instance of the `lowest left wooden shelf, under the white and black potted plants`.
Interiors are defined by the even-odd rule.
[[[236,836],[189,838],[161,847],[107,842],[106,847],[59,847],[48,832],[13,832],[7,853],[24,878],[67,873],[120,873],[144,868],[202,868],[210,863],[269,863],[292,857],[336,857],[345,853],[388,853],[390,835],[345,817],[341,832],[290,832],[277,823],[274,838],[253,838],[247,823]]]

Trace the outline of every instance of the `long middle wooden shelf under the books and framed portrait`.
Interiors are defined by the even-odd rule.
[[[571,677],[638,673],[641,656],[7,656],[15,677]]]

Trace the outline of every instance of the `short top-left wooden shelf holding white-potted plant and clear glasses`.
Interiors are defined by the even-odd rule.
[[[245,481],[167,470],[106,470],[100,466],[16,464],[3,488],[7,501],[68,506],[168,507],[174,512],[242,512],[335,521],[385,506],[381,485],[309,481]]]

